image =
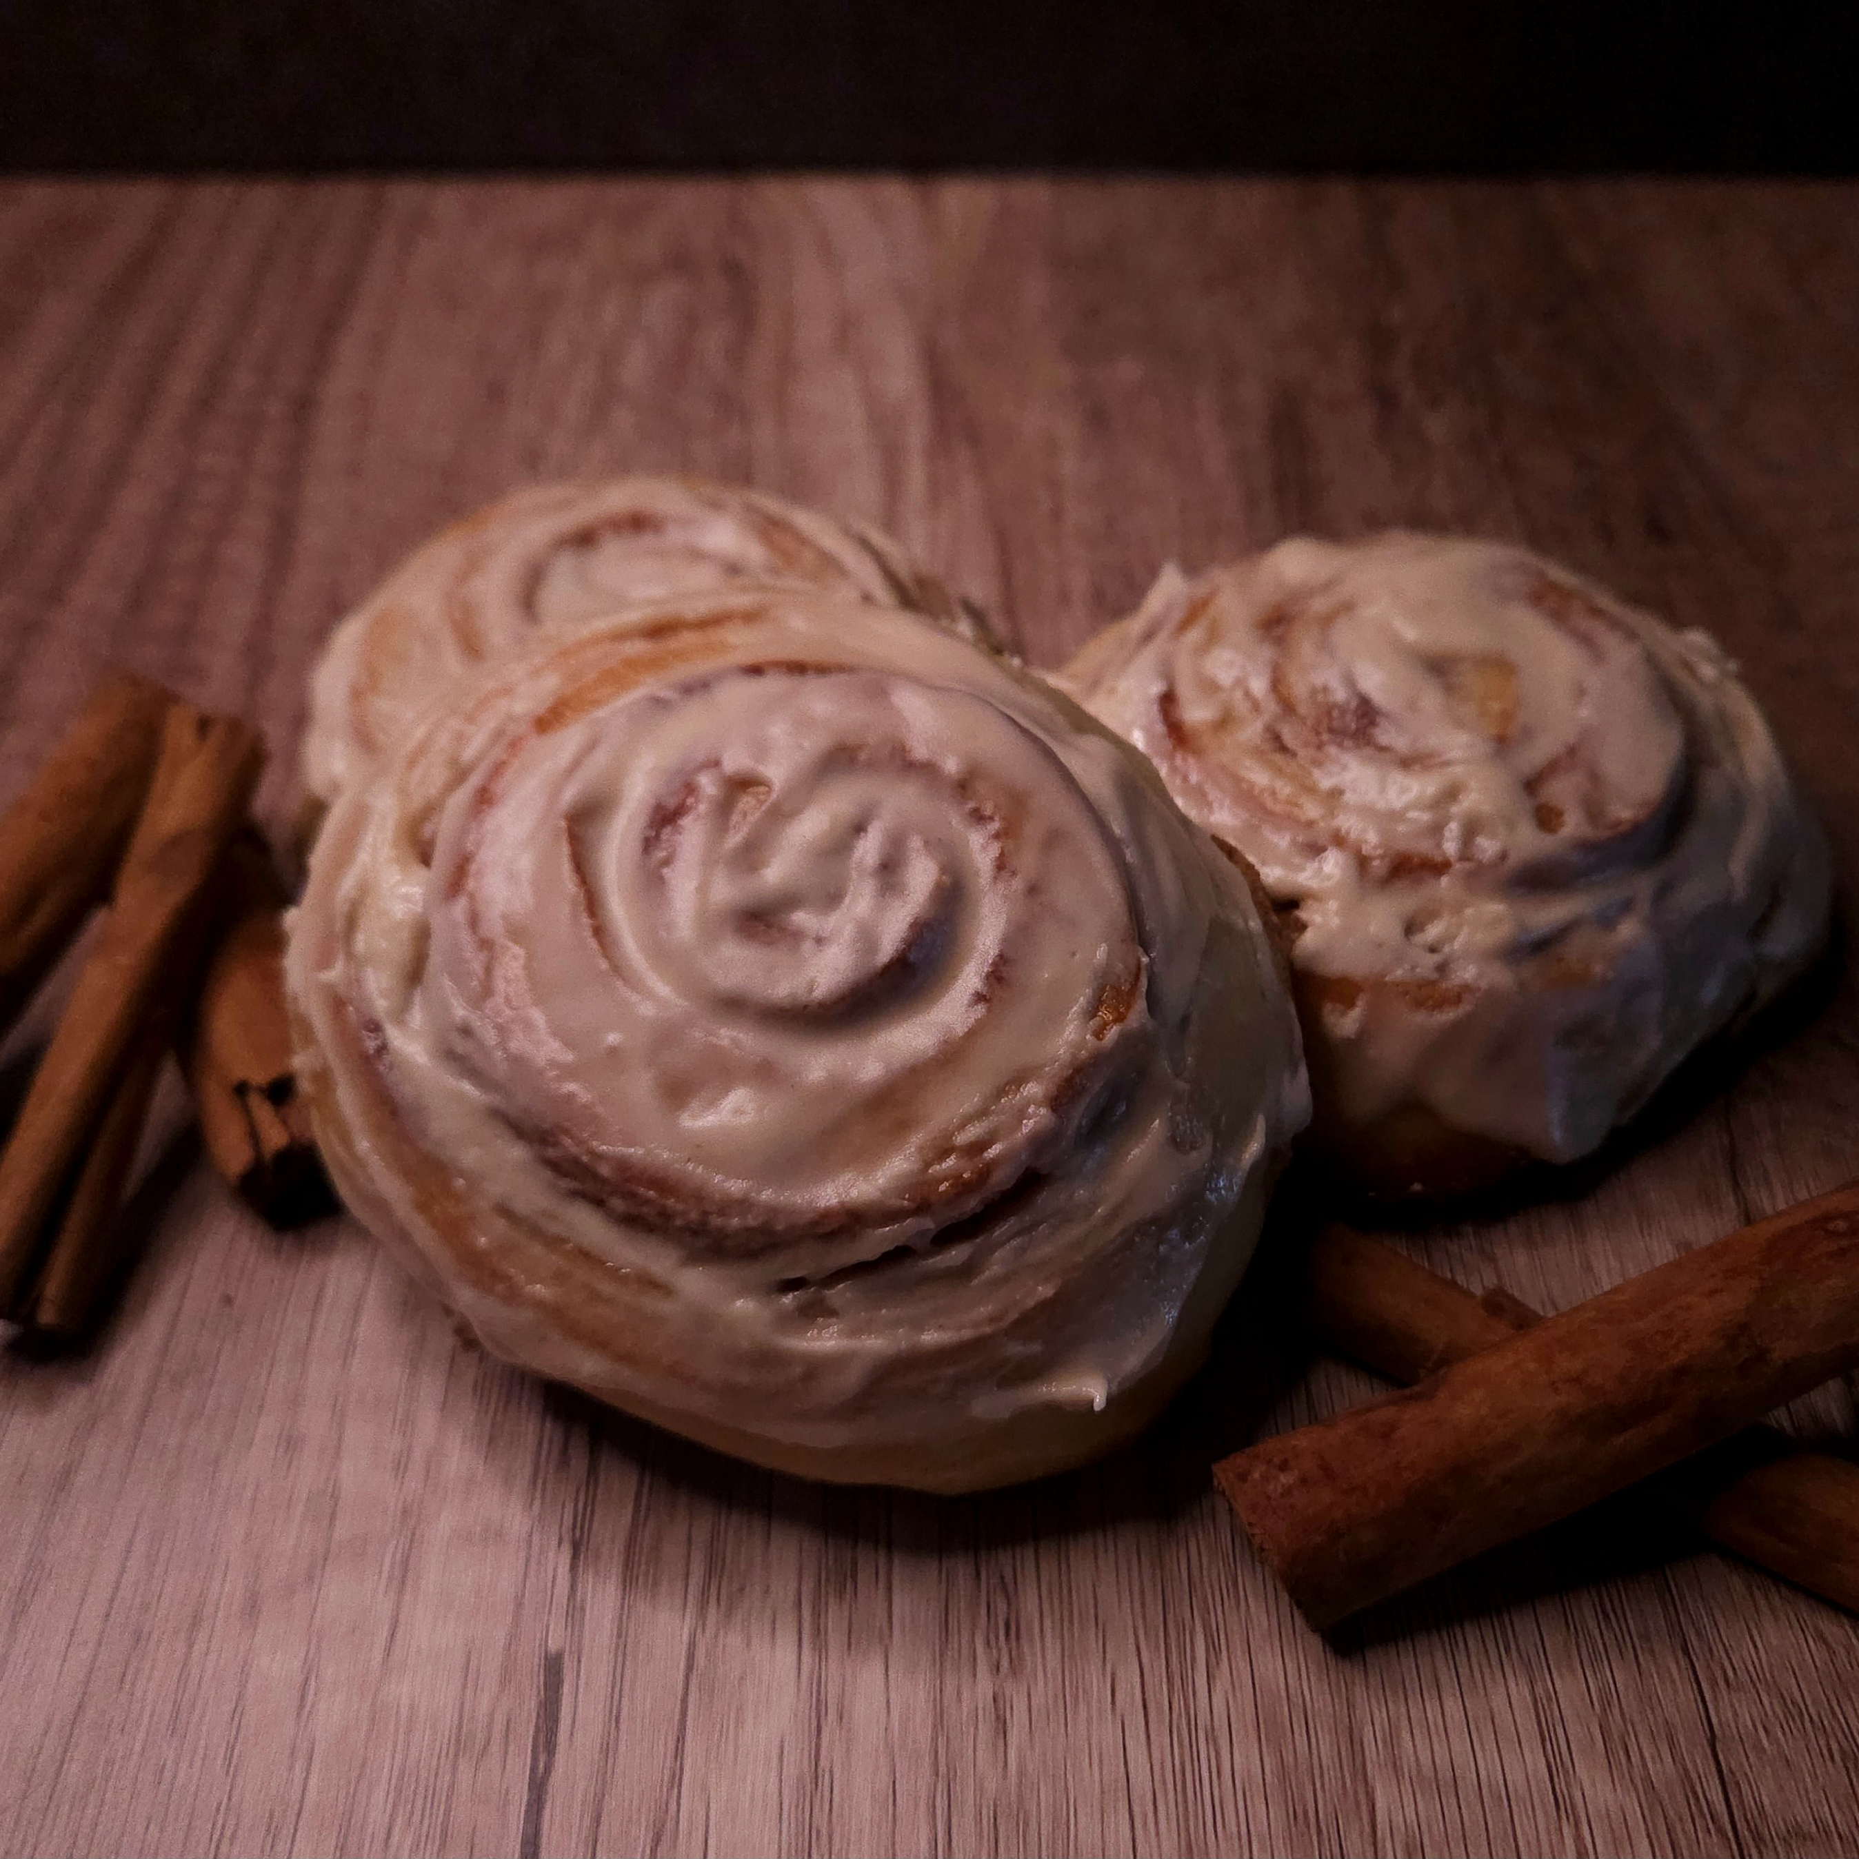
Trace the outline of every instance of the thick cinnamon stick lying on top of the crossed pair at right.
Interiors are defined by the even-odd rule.
[[[1556,1523],[1859,1365],[1859,1182],[1214,1467],[1314,1627]]]

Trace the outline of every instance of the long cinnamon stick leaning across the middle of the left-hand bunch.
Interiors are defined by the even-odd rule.
[[[262,764],[262,738],[232,718],[173,705],[162,719],[110,909],[0,1154],[0,1309],[17,1309],[151,1011],[184,991],[214,872]]]

